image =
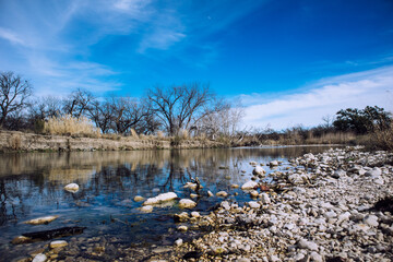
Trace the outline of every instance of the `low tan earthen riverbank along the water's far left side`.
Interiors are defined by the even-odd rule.
[[[85,138],[75,135],[45,135],[19,131],[0,131],[0,152],[58,151],[130,151],[168,148],[214,148],[222,143],[210,140],[182,140],[158,136]]]

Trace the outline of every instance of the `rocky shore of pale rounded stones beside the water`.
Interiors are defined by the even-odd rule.
[[[258,184],[241,188],[252,201],[239,204],[229,191],[214,211],[186,209],[175,215],[183,236],[199,237],[160,247],[73,237],[61,247],[47,245],[39,255],[50,261],[393,261],[392,163],[391,153],[354,147],[306,154],[284,163],[285,171],[270,174],[275,187],[262,187],[261,165],[251,163],[251,181]],[[88,246],[81,248],[81,241]]]

